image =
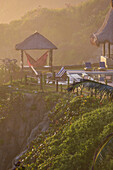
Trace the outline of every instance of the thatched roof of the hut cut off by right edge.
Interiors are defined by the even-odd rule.
[[[91,36],[90,40],[97,46],[106,42],[113,44],[113,8],[106,15],[102,27]]]

